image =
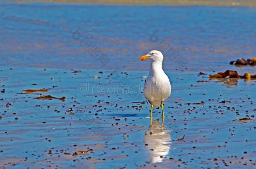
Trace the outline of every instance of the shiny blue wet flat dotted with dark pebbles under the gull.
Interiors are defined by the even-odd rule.
[[[209,80],[198,76],[198,72],[168,73],[173,90],[165,102],[167,117],[162,127],[159,110],[154,111],[152,126],[150,119],[145,118],[149,115],[149,104],[140,103],[145,99],[139,97],[139,91],[133,94],[133,90],[128,90],[127,94],[118,90],[120,85],[144,84],[141,77],[147,75],[146,71],[81,70],[75,74],[64,69],[1,67],[0,70],[1,89],[5,89],[0,95],[3,98],[0,166],[222,168],[227,163],[236,168],[244,164],[255,167],[252,91],[256,90],[256,81],[238,80],[237,85],[227,86],[217,81],[197,83]],[[50,91],[29,94],[22,91],[39,88]],[[34,99],[39,93],[66,99]],[[201,101],[204,103],[186,104]],[[6,105],[8,102],[11,106]],[[73,114],[66,113],[68,108],[73,108]],[[246,116],[252,120],[236,120]],[[177,141],[183,135],[184,141]],[[87,149],[93,151],[72,156],[77,150]]]

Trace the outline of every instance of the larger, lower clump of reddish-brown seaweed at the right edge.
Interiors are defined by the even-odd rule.
[[[241,76],[238,74],[237,71],[227,70],[224,73],[219,72],[215,75],[209,75],[209,78],[246,78],[246,79],[251,79],[251,78],[256,78],[256,74],[251,75],[250,73],[246,72],[243,76]]]

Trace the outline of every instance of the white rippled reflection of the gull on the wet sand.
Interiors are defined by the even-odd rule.
[[[146,149],[149,150],[150,162],[152,163],[162,162],[170,150],[170,131],[163,124],[164,118],[162,118],[161,124],[159,119],[154,121],[151,119],[151,125],[144,135]]]

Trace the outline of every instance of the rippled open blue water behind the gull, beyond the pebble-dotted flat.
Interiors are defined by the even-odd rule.
[[[148,70],[138,58],[157,49],[166,70],[224,71],[256,55],[255,7],[1,2],[0,12],[1,66]]]

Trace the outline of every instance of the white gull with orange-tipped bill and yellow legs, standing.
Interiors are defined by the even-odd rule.
[[[153,108],[162,107],[162,118],[164,115],[164,101],[171,95],[171,83],[168,76],[162,69],[163,54],[158,50],[152,50],[147,55],[141,56],[140,60],[151,59],[149,76],[145,80],[144,96],[151,105],[149,118],[152,119]]]

